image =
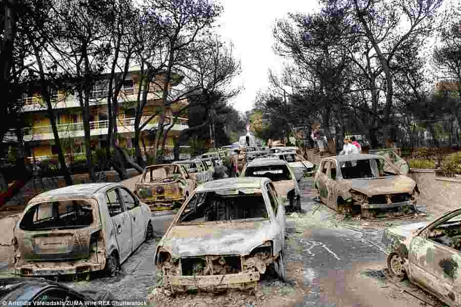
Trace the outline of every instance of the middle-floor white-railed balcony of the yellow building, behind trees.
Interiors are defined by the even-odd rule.
[[[150,116],[141,117],[141,124],[149,120]],[[142,130],[149,130],[155,128],[158,124],[159,117],[154,117],[149,121],[148,124]],[[169,124],[174,119],[171,116],[166,116],[166,123]],[[124,118],[119,119],[117,124],[118,133],[133,133],[134,132],[135,118]],[[82,138],[85,133],[83,131],[83,123],[68,123],[68,124],[57,124],[57,130],[60,138]],[[100,120],[90,122],[90,133],[92,136],[106,135],[109,127],[109,121]],[[182,131],[187,129],[188,119],[178,118],[177,123],[172,127],[173,131]],[[36,126],[24,129],[24,141],[41,141],[41,140],[52,140],[53,130],[51,125]]]

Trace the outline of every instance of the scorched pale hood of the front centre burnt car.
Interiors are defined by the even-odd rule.
[[[246,255],[270,239],[270,222],[224,222],[176,225],[159,246],[173,258],[202,255]]]

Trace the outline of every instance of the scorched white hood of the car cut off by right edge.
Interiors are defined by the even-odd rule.
[[[411,238],[416,235],[417,231],[423,229],[429,225],[429,223],[430,222],[412,223],[385,229],[381,239],[384,250],[387,254],[393,251],[402,252],[402,249],[405,250],[402,245],[408,248]]]

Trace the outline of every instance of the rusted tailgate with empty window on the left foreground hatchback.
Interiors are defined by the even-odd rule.
[[[72,260],[90,256],[99,228],[94,200],[53,200],[26,209],[15,237],[25,261]]]

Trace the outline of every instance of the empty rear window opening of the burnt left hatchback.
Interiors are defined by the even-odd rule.
[[[45,202],[31,207],[19,228],[27,231],[81,228],[93,223],[93,207],[85,200]]]

